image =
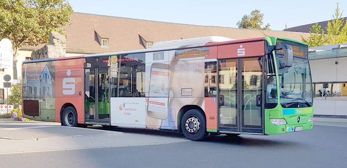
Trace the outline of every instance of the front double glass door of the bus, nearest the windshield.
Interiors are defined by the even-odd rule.
[[[219,131],[264,133],[264,57],[219,60]],[[241,74],[241,75],[240,75]]]

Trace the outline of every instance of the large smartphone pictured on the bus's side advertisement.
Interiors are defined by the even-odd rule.
[[[168,117],[171,71],[169,64],[151,65],[147,115],[152,118],[165,120]]]

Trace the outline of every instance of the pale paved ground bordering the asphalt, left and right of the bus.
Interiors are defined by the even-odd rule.
[[[347,127],[347,119],[315,118],[315,125]],[[143,146],[189,141],[176,131],[63,127],[60,123],[0,119],[0,154]]]

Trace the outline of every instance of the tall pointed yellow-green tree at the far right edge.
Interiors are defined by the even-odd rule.
[[[347,43],[347,26],[344,19],[341,19],[343,11],[340,13],[339,3],[336,3],[336,10],[332,16],[334,19],[328,21],[327,25],[327,43],[331,44],[341,44]],[[343,26],[343,27],[342,27]],[[341,29],[342,27],[342,29]]]

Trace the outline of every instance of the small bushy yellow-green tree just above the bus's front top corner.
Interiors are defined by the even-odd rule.
[[[325,43],[325,32],[318,23],[312,25],[310,28],[310,37],[305,39],[301,36],[303,42],[307,43],[309,47],[323,46]]]

